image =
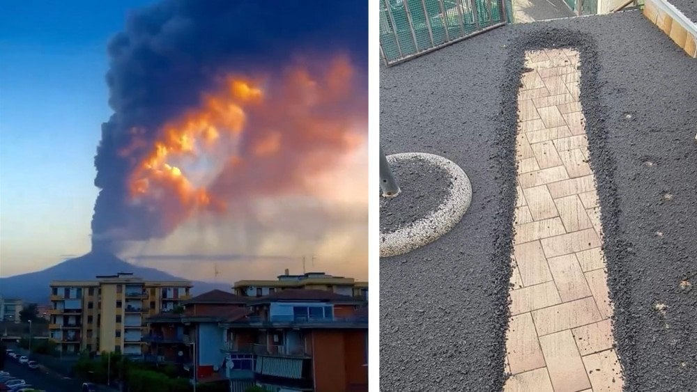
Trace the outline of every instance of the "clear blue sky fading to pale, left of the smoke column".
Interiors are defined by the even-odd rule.
[[[149,3],[3,1],[0,276],[89,251],[93,157],[112,113],[107,41]]]

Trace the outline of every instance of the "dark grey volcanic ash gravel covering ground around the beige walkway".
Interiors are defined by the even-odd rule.
[[[581,52],[625,388],[695,390],[697,61],[638,11],[504,26],[381,70],[385,152],[443,155],[473,186],[450,233],[381,260],[381,390],[503,387],[516,94],[523,52],[552,45]]]

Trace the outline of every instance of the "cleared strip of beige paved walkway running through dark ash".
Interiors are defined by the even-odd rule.
[[[578,52],[526,54],[505,391],[621,391]]]

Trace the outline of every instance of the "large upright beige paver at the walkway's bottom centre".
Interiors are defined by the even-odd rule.
[[[541,336],[539,345],[542,346],[542,354],[555,392],[576,392],[590,388],[590,381],[585,375],[585,367],[581,355],[576,350],[571,331]]]

